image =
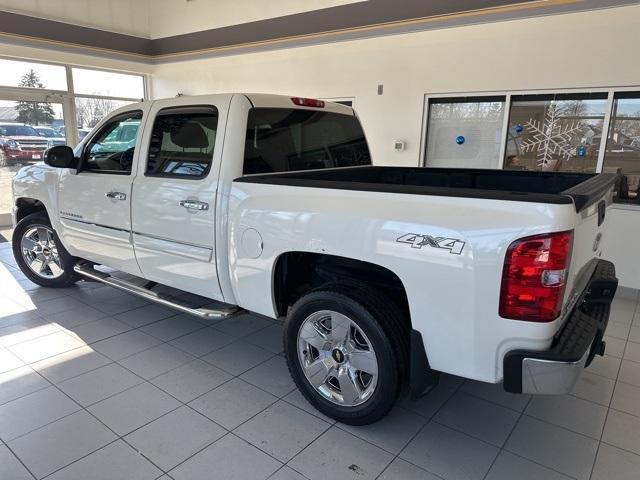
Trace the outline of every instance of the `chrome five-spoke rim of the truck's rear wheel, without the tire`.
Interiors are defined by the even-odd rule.
[[[309,383],[337,405],[361,405],[376,389],[378,360],[373,346],[341,313],[321,310],[302,322],[298,359]]]

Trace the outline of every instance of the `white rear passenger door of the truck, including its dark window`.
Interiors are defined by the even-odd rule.
[[[222,299],[215,199],[230,96],[154,103],[133,186],[133,243],[145,278]]]

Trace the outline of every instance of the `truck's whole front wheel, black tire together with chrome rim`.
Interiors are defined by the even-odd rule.
[[[16,263],[33,283],[64,288],[80,280],[73,271],[78,259],[64,248],[46,213],[32,213],[20,220],[11,241]]]

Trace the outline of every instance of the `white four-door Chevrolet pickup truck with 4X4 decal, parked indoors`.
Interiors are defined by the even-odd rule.
[[[346,106],[179,97],[121,108],[23,168],[13,250],[43,286],[92,279],[205,318],[284,318],[301,392],[365,424],[439,372],[571,390],[604,351],[615,180],[376,167]]]

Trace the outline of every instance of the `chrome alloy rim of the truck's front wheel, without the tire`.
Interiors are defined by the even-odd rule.
[[[45,225],[29,228],[20,241],[25,263],[36,275],[53,279],[64,273],[53,230]]]

